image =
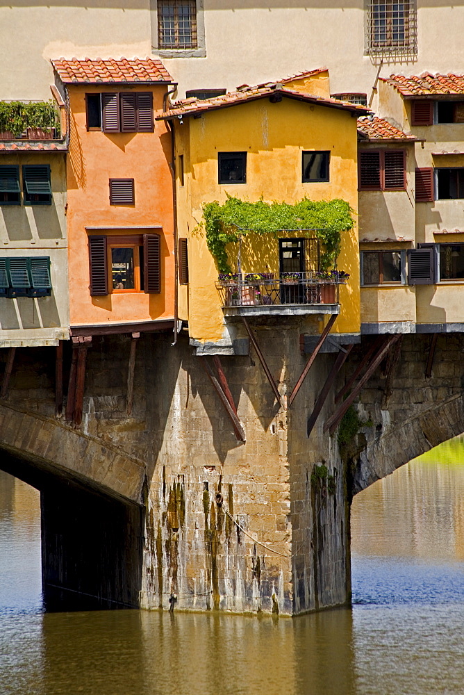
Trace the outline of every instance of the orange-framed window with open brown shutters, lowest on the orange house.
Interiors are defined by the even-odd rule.
[[[89,236],[90,294],[161,291],[159,234]]]

